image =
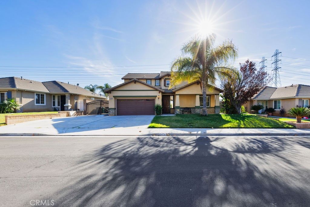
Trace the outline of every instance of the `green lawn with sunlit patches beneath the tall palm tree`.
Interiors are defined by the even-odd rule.
[[[184,114],[155,116],[148,128],[294,128],[285,122],[251,114]]]

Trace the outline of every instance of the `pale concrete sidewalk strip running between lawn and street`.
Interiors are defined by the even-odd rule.
[[[310,136],[310,129],[210,128],[0,128],[0,136]]]

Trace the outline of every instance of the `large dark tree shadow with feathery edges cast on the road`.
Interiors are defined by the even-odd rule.
[[[70,168],[84,176],[53,199],[61,206],[307,205],[299,142],[310,144],[298,137],[123,139]]]

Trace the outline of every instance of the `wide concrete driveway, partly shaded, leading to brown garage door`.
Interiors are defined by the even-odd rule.
[[[29,121],[19,124],[11,124],[2,126],[2,130],[11,129],[10,131],[20,131],[22,129],[105,129],[105,128],[148,128],[154,115],[141,116],[104,116],[104,115],[88,115],[74,116],[54,119],[42,119]]]

